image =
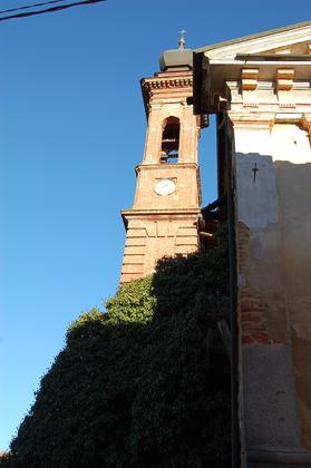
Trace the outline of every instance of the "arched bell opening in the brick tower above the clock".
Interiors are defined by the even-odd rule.
[[[161,163],[178,163],[181,123],[177,117],[167,117],[163,123]]]

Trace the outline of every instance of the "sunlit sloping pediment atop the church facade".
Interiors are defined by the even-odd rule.
[[[234,60],[237,55],[311,55],[311,21],[203,47],[210,60]]]

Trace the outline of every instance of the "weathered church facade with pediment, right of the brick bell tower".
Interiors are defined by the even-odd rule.
[[[241,466],[311,467],[311,21],[195,50],[194,107],[233,208]]]

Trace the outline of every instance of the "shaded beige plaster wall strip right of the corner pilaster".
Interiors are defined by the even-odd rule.
[[[311,162],[275,162],[302,445],[311,450]]]

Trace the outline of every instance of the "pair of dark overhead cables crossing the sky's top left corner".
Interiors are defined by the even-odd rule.
[[[6,14],[6,13],[21,11],[21,10],[29,10],[29,9],[32,9],[32,8],[47,7],[49,4],[60,3],[60,2],[64,2],[64,1],[67,1],[67,0],[50,0],[50,1],[45,1],[45,2],[40,2],[40,3],[28,4],[28,6],[25,6],[25,7],[11,8],[9,10],[0,11],[0,14]],[[20,13],[17,12],[16,14],[9,14],[9,16],[6,16],[6,17],[0,17],[0,21],[16,19],[16,18],[32,17],[35,14],[52,13],[55,11],[65,10],[67,8],[78,7],[78,6],[81,6],[81,4],[99,3],[99,2],[103,2],[103,1],[106,1],[106,0],[81,0],[81,1],[75,1],[75,2],[71,2],[71,3],[58,4],[58,6],[55,6],[55,7],[48,7],[48,8],[45,8],[42,10],[31,10],[31,11],[25,11],[25,12],[20,12]]]

